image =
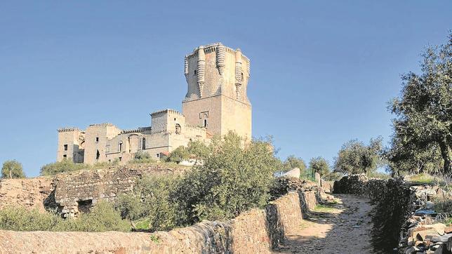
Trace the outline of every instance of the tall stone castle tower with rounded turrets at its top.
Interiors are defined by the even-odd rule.
[[[251,139],[251,103],[246,93],[250,61],[240,49],[221,43],[199,46],[185,56],[184,71],[186,123],[206,127],[213,135],[235,131]]]

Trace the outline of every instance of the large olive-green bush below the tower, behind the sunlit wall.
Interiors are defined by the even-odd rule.
[[[234,218],[265,205],[279,162],[270,145],[257,140],[243,147],[235,133],[214,139],[204,165],[187,172],[171,194],[185,215],[180,223]]]

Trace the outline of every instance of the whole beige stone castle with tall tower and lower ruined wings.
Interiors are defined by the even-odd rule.
[[[240,49],[217,43],[195,48],[184,63],[187,95],[182,100],[182,114],[159,110],[150,114],[151,126],[130,130],[112,123],[91,124],[85,131],[60,128],[57,161],[125,163],[139,151],[158,160],[190,140],[208,142],[213,135],[229,131],[251,139],[248,58]]]

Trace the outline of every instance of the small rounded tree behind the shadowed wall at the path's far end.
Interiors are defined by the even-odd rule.
[[[358,140],[346,142],[334,161],[334,171],[346,174],[375,171],[382,161],[382,138],[371,139],[369,145]]]

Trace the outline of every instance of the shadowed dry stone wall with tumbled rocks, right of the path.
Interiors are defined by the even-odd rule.
[[[373,247],[380,253],[451,252],[452,229],[437,220],[450,216],[432,210],[432,199],[443,194],[437,186],[406,182],[404,178],[369,180],[366,175],[346,176],[334,183],[335,193],[366,196],[373,209]]]

